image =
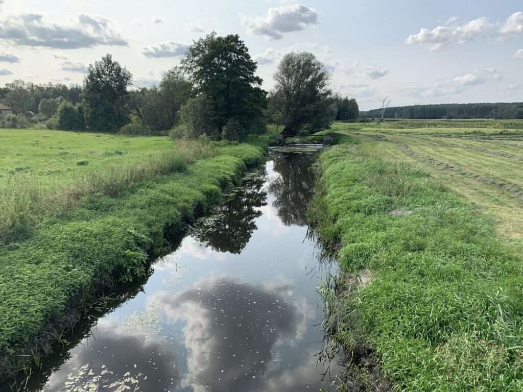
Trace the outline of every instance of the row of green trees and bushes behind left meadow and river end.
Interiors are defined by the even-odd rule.
[[[131,89],[131,73],[107,54],[89,65],[82,86],[16,80],[0,88],[0,101],[17,113],[6,122],[12,128],[31,121],[49,129],[214,140],[243,140],[264,132],[267,122],[282,124],[284,134],[308,134],[359,116],[355,99],[332,93],[331,76],[312,53],[284,56],[270,92],[256,71],[238,35],[212,32],[152,88]]]

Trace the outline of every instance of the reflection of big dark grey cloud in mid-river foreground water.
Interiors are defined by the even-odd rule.
[[[158,301],[171,322],[184,320],[190,350],[182,386],[195,391],[263,390],[275,345],[293,340],[310,312],[286,296],[229,277],[198,282]]]

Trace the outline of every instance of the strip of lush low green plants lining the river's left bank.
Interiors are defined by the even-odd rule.
[[[0,248],[0,378],[38,364],[103,291],[143,276],[164,233],[221,202],[222,189],[263,159],[266,143],[220,146],[183,172],[99,195],[52,218],[31,238]]]

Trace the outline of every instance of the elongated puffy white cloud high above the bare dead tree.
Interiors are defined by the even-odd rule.
[[[451,44],[471,41],[491,27],[486,18],[479,18],[462,26],[438,26],[432,30],[422,28],[419,33],[411,34],[405,42],[419,44],[435,51]]]

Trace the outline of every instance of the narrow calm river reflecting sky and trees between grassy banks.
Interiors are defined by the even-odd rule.
[[[328,390],[325,276],[306,238],[315,155],[273,153],[140,285],[46,360],[29,391]]]

